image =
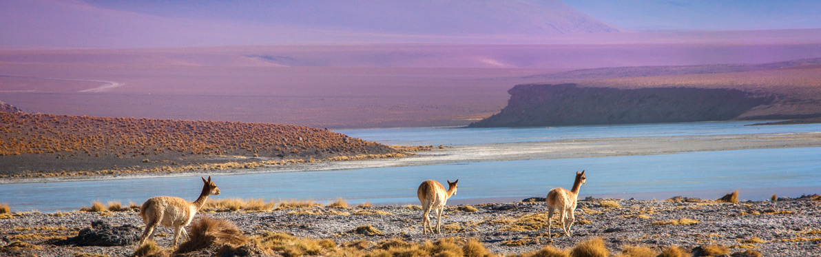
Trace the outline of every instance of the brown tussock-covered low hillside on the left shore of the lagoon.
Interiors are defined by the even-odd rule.
[[[307,126],[0,112],[0,176],[43,177],[256,168],[401,156]]]

